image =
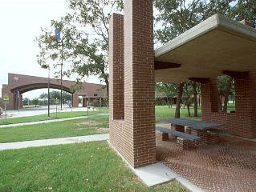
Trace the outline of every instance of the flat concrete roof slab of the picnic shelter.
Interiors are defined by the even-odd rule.
[[[215,14],[155,50],[155,61],[181,64],[155,70],[157,82],[215,78],[224,70],[256,70],[256,30]]]

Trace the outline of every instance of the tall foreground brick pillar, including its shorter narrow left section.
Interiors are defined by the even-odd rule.
[[[109,51],[110,142],[147,166],[156,162],[152,0],[126,0],[124,18],[112,15]]]

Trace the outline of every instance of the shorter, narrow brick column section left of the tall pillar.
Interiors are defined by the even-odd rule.
[[[124,16],[112,14],[109,41],[109,116],[124,119]]]

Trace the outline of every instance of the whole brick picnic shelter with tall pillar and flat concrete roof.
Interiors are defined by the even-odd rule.
[[[155,81],[201,82],[203,120],[256,137],[256,30],[244,24],[216,14],[154,50],[152,0],[124,0],[124,15],[112,15],[110,142],[131,166],[156,162]],[[221,74],[235,79],[234,114],[217,111]]]

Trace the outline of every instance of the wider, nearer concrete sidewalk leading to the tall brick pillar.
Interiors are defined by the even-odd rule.
[[[55,146],[61,144],[71,144],[79,142],[95,142],[106,141],[109,139],[109,134],[94,134],[87,136],[71,137],[71,138],[51,138],[26,142],[6,142],[0,143],[0,150],[16,150],[36,146]]]

